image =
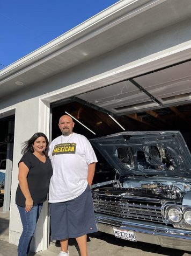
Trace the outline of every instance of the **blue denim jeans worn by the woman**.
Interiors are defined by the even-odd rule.
[[[33,206],[30,212],[26,212],[25,207],[19,205],[17,205],[17,207],[23,224],[23,232],[19,239],[17,252],[18,256],[26,256],[30,250],[30,243],[36,229],[36,223],[40,216],[42,204]]]

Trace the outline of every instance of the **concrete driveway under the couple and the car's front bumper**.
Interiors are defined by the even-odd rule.
[[[17,246],[8,243],[9,240],[9,213],[3,213],[0,208],[0,256],[17,256]],[[99,236],[98,236],[99,235]],[[191,252],[184,252],[158,245],[141,242],[131,242],[115,238],[106,233],[91,234],[88,237],[89,256],[188,256]],[[69,240],[70,256],[79,256],[75,239]],[[30,253],[28,256],[57,256],[60,244],[51,243],[48,250]]]

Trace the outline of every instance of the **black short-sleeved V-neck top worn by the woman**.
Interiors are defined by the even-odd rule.
[[[50,178],[53,175],[51,161],[46,157],[46,162],[43,163],[34,154],[27,152],[21,158],[20,162],[24,162],[28,167],[27,182],[28,188],[33,199],[33,206],[45,202],[49,189]],[[18,185],[16,192],[16,204],[25,207],[25,197]]]

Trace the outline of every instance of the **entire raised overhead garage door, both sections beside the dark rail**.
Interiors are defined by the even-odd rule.
[[[123,114],[191,100],[191,61],[121,81],[77,97],[109,112]]]

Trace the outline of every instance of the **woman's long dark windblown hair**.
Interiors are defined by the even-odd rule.
[[[38,139],[39,137],[44,137],[45,140],[46,140],[47,146],[46,146],[46,149],[45,149],[45,151],[44,151],[44,154],[45,154],[45,156],[48,157],[48,146],[49,146],[49,142],[48,142],[47,136],[46,136],[45,134],[43,134],[43,133],[35,133],[35,134],[31,137],[31,139],[29,139],[28,141],[23,142],[23,146],[22,146],[23,149],[22,149],[21,153],[22,153],[23,155],[26,154],[27,152],[33,153],[33,152],[34,152],[34,149],[33,149],[34,141],[35,141],[36,139]]]

